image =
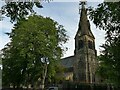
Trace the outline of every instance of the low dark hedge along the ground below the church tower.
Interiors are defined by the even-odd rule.
[[[120,87],[108,86],[107,84],[85,84],[65,82],[63,90],[120,90]]]

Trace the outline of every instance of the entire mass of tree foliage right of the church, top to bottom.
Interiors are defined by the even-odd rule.
[[[90,9],[94,24],[106,31],[106,42],[102,45],[99,74],[105,81],[120,85],[120,1],[104,2]],[[104,74],[104,75],[103,75]]]

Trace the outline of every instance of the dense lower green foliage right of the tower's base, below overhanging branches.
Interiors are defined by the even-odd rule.
[[[113,43],[110,46],[104,44],[104,51],[99,56],[101,62],[99,67],[99,74],[105,82],[120,83],[120,44]]]

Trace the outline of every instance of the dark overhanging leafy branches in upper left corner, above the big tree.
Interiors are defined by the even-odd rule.
[[[50,0],[45,0],[50,1]],[[19,21],[20,19],[25,19],[28,17],[31,13],[35,13],[33,6],[36,6],[38,8],[43,8],[41,5],[41,0],[5,0],[5,5],[1,7],[1,13],[2,15],[5,15],[7,17],[10,17],[11,22]]]

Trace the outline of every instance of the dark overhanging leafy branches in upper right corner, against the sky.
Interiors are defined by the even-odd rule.
[[[120,33],[120,2],[104,2],[95,10],[89,9],[90,19],[106,31],[106,38],[114,39]],[[117,36],[116,36],[117,35]]]

